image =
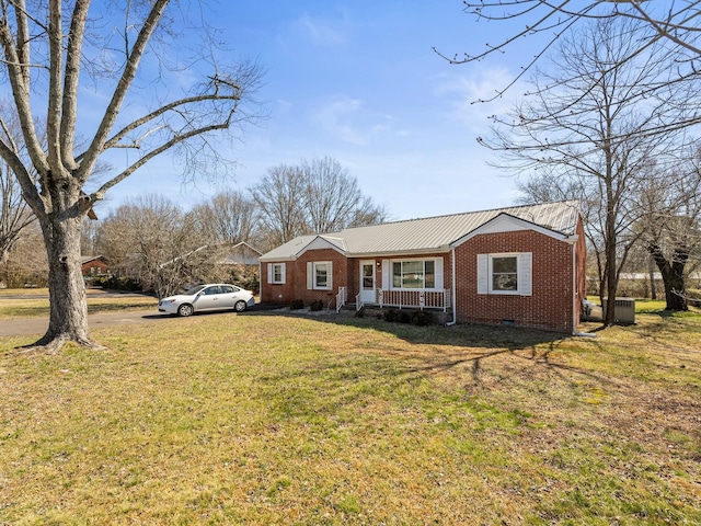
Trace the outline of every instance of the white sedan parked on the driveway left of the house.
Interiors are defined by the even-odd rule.
[[[186,293],[163,298],[158,302],[158,310],[169,315],[191,316],[208,310],[243,312],[253,305],[255,305],[255,298],[251,290],[235,285],[212,283],[198,285]]]

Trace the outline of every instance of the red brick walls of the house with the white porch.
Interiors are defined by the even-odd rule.
[[[514,323],[536,327],[559,332],[573,332],[579,319],[581,299],[586,287],[585,238],[582,221],[577,226],[576,279],[573,281],[573,247],[533,230],[518,230],[475,236],[456,248],[456,312],[457,322]],[[532,295],[478,294],[478,254],[532,253]],[[452,267],[450,253],[427,253],[402,259],[443,258],[444,286],[452,288]],[[399,258],[398,258],[399,259]],[[292,300],[302,300],[310,305],[321,300],[324,307],[336,305],[338,287],[347,287],[348,302],[355,302],[359,293],[360,261],[381,258],[346,259],[333,249],[309,250],[297,261],[286,263],[286,283],[267,283],[267,263],[262,268],[261,300],[279,305],[289,305]],[[333,282],[331,290],[307,289],[307,263],[331,261]],[[376,285],[382,286],[382,267],[375,266]],[[573,300],[573,286],[576,288],[576,301]]]

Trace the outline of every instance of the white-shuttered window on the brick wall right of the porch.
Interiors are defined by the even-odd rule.
[[[478,254],[478,294],[532,294],[531,252]]]

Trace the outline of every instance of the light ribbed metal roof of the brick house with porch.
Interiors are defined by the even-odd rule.
[[[261,261],[294,260],[317,240],[324,240],[349,256],[449,250],[473,230],[499,215],[513,216],[562,237],[573,236],[579,217],[576,201],[514,206],[450,216],[347,228],[330,235],[300,236],[261,256]],[[314,243],[318,248],[319,242]]]

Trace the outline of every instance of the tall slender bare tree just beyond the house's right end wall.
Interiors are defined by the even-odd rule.
[[[675,122],[687,102],[699,100],[693,87],[676,92],[665,81],[668,72],[660,65],[669,53],[664,46],[648,47],[637,61],[621,60],[636,46],[630,38],[634,25],[607,19],[559,41],[554,72],[540,71],[510,118],[495,118],[493,137],[482,140],[502,153],[507,168],[545,167],[600,204],[597,214],[589,210],[589,219],[598,220],[589,232],[600,236],[590,241],[598,238],[602,244],[600,294],[608,298],[616,297],[619,274],[636,241],[636,190],[664,171],[666,162],[676,162],[683,146],[679,129],[644,130]],[[605,321],[614,322],[613,309]]]

